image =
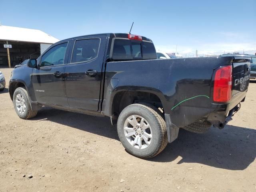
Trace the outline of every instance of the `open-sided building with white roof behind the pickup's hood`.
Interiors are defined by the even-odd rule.
[[[0,26],[0,66],[15,66],[29,58],[38,58],[49,46],[59,40],[35,29]],[[4,46],[9,44],[9,46]],[[10,47],[12,48],[5,48]]]

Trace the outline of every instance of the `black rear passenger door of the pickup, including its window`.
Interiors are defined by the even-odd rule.
[[[74,39],[70,64],[65,70],[68,106],[98,110],[106,42],[106,35]]]

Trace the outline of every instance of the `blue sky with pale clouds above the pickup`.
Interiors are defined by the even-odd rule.
[[[185,55],[256,52],[256,0],[0,0],[0,22],[58,39],[104,32],[151,38]]]

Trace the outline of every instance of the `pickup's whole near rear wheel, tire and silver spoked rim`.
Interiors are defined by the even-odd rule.
[[[124,108],[118,117],[117,131],[126,150],[139,158],[152,158],[166,147],[166,123],[158,109],[138,103]]]

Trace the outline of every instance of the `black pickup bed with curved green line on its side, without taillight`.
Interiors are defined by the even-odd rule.
[[[104,102],[102,112],[111,116],[107,107],[114,92],[136,90],[151,92],[160,98],[165,114],[172,124],[185,127],[197,120],[225,121],[228,112],[244,100],[244,88],[235,85],[237,79],[250,74],[246,65],[250,60],[234,57],[179,58],[108,62],[106,64]],[[220,66],[233,65],[232,99],[228,103],[212,101],[212,76]]]

